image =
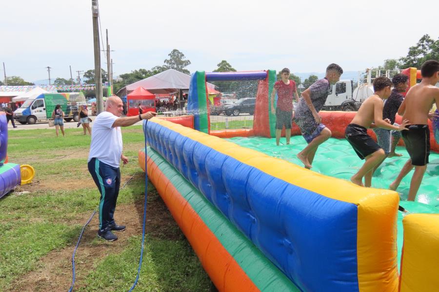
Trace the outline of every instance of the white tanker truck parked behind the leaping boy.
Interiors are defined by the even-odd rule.
[[[399,70],[370,70],[366,69],[366,77],[361,78],[364,73],[359,72],[359,86],[354,90],[353,80],[339,80],[333,85],[332,93],[328,95],[323,110],[326,111],[357,111],[361,103],[374,94],[373,80],[376,77],[384,76],[391,78],[399,73]]]

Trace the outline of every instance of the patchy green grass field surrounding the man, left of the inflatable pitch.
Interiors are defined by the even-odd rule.
[[[22,187],[29,193],[12,193],[0,199],[0,291],[12,289],[23,275],[41,268],[40,259],[48,253],[73,251],[82,224],[98,206],[98,189],[87,187],[93,185],[86,166],[90,136],[83,136],[81,129],[66,129],[66,135],[57,138],[53,129],[9,133],[9,161],[32,165],[36,176],[35,187]],[[130,163],[120,168],[123,188],[118,206],[142,205],[145,180],[137,160],[138,149],[144,146],[141,126],[122,129],[122,136],[124,148],[129,149],[124,155]],[[39,185],[45,188],[39,189]],[[151,184],[148,202],[163,204]],[[111,243],[97,238],[81,242],[83,249],[86,245],[102,246],[108,255],[90,259],[94,263],[90,271],[78,271],[78,291],[127,291],[136,277],[140,242],[141,234],[128,238],[120,253],[113,253]],[[62,267],[71,279],[71,264],[63,262]],[[209,291],[210,287],[207,274],[175,222],[147,234],[136,291]]]

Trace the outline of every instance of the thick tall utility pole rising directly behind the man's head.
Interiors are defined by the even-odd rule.
[[[104,111],[102,99],[102,72],[100,69],[100,45],[99,45],[99,8],[98,1],[92,0],[92,16],[93,16],[93,44],[95,49],[95,92],[96,92],[96,110],[99,115]]]

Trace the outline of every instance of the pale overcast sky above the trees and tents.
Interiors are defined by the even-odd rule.
[[[424,34],[438,38],[438,8],[437,0],[100,0],[100,22],[115,76],[162,65],[173,49],[191,72],[223,59],[242,71],[323,72],[332,62],[359,71],[406,56]],[[94,69],[91,0],[2,1],[0,15],[8,76],[46,79],[50,66],[52,79],[67,79],[69,65]]]

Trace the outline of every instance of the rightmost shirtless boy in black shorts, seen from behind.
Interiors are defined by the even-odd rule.
[[[436,103],[439,108],[439,88],[435,86],[439,81],[439,62],[437,60],[424,62],[421,75],[422,81],[410,88],[398,110],[402,119],[409,119],[412,123],[408,126],[409,130],[402,133],[410,159],[407,160],[395,181],[390,184],[390,189],[396,190],[402,178],[414,167],[415,173],[410,181],[409,201],[415,200],[427,169],[430,155],[430,129],[427,122],[429,117],[436,116],[429,115],[433,104]]]

